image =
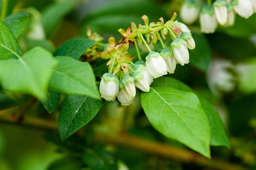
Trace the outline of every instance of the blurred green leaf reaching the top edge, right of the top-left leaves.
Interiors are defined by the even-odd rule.
[[[42,24],[45,34],[49,37],[61,19],[74,8],[74,0],[55,2],[42,11]]]

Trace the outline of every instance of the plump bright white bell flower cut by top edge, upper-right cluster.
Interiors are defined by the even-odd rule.
[[[232,0],[231,4],[238,15],[243,18],[249,18],[253,14],[253,4],[251,0]]]

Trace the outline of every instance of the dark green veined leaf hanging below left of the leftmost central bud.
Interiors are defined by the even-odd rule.
[[[58,117],[59,132],[62,140],[85,126],[98,113],[103,101],[88,96],[67,95]]]

